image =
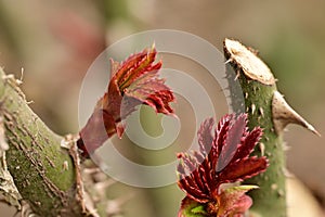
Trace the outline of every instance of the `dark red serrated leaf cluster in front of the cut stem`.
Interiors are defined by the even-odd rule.
[[[199,152],[178,154],[181,158],[178,184],[186,193],[186,203],[180,209],[184,217],[188,213],[183,210],[184,204],[193,208],[194,202],[206,207],[205,215],[211,217],[242,216],[250,207],[251,200],[245,192],[253,187],[221,188],[223,183],[256,176],[268,167],[265,157],[249,157],[262,130],[255,128],[249,132],[246,124],[246,114],[225,115],[212,133],[214,123],[208,118],[198,130]]]

